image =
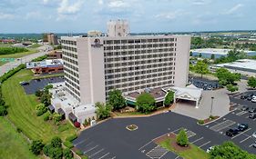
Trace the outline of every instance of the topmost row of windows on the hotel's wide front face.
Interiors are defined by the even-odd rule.
[[[177,41],[177,38],[105,40],[105,41],[104,41],[104,45],[111,45],[111,44],[158,43],[158,42],[174,42],[174,41]]]

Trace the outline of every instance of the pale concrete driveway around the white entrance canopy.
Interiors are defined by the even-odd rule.
[[[214,97],[212,104],[212,115],[224,116],[230,112],[230,99],[226,89],[214,91],[203,91],[199,108],[193,104],[177,103],[173,112],[183,114],[194,119],[206,119],[210,116],[211,97]]]

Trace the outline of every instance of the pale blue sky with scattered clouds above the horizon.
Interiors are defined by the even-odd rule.
[[[256,0],[0,0],[1,33],[132,33],[256,30]]]

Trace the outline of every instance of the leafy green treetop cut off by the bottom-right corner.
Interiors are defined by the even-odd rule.
[[[241,150],[239,146],[232,142],[225,142],[220,145],[215,145],[210,151],[210,159],[253,159],[256,158],[255,154],[249,154]]]

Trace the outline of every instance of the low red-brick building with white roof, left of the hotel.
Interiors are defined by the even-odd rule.
[[[63,73],[63,61],[62,59],[55,59],[29,62],[26,63],[26,68],[31,69],[35,75]]]

